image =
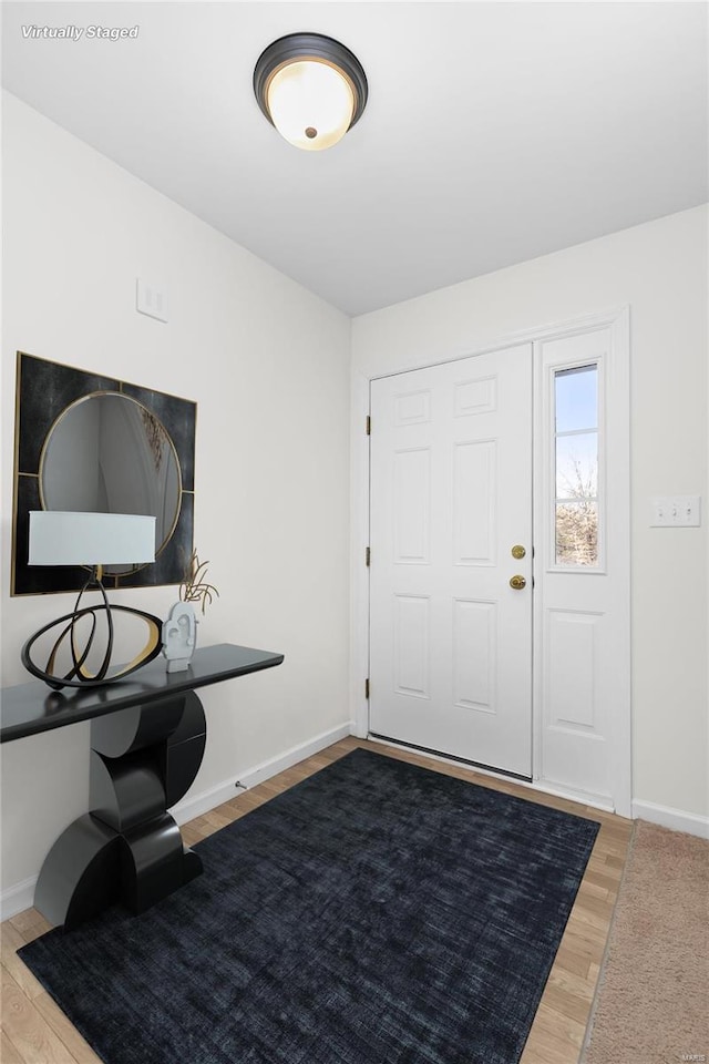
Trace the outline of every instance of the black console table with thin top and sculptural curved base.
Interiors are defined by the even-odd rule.
[[[129,679],[50,692],[33,681],[2,692],[0,741],[91,720],[91,807],[59,837],[34,906],[70,929],[116,901],[144,912],[202,872],[167,812],[192,786],[206,719],[195,688],[280,665],[282,654],[222,644],[189,668],[156,659]]]

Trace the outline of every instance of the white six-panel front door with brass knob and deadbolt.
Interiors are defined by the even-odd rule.
[[[532,345],[370,398],[370,733],[531,777]]]

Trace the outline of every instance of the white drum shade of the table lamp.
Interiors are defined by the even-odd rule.
[[[154,561],[153,516],[30,510],[30,565],[120,565]]]

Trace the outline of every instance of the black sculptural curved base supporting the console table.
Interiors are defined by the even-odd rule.
[[[192,786],[205,741],[194,692],[92,720],[92,812],[59,837],[34,893],[51,923],[78,927],[116,901],[144,912],[202,872],[167,808]]]

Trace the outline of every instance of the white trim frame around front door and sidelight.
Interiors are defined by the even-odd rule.
[[[532,344],[533,347],[533,534],[534,542],[541,544],[548,535],[548,515],[545,508],[537,504],[540,485],[544,483],[545,439],[548,427],[544,416],[544,368],[542,349],[544,341],[562,339],[594,329],[608,328],[612,334],[612,359],[607,368],[609,387],[613,388],[616,409],[623,411],[625,426],[616,432],[613,453],[616,474],[627,485],[621,498],[616,498],[614,509],[614,529],[623,544],[620,581],[626,590],[625,607],[616,610],[615,624],[624,648],[623,675],[617,677],[619,685],[618,710],[613,722],[613,746],[609,757],[610,789],[613,808],[621,816],[631,816],[631,689],[630,689],[630,311],[629,307],[614,307],[608,310],[580,315],[575,318],[551,323],[538,328],[523,329],[507,334],[493,344],[471,346],[461,351],[441,350],[431,352],[430,358],[418,364],[405,364],[389,369],[387,374],[368,376],[354,368],[351,377],[351,423],[350,423],[350,484],[351,484],[351,526],[350,526],[350,720],[352,733],[364,738],[369,733],[369,702],[366,694],[366,679],[369,676],[369,570],[366,563],[370,539],[369,523],[369,462],[370,448],[367,423],[369,416],[370,380],[383,376],[405,374],[415,369],[438,366],[442,362],[459,361],[475,355],[484,355],[517,344]],[[533,789],[558,794],[563,797],[580,800],[586,805],[609,808],[603,800],[595,801],[572,788],[551,788],[541,779],[542,773],[542,682],[543,647],[540,633],[544,611],[545,573],[541,564],[541,551],[536,551],[533,564],[534,604],[533,604],[533,663],[532,663],[532,773]],[[483,771],[476,769],[476,771]],[[504,775],[504,774],[492,774]]]

